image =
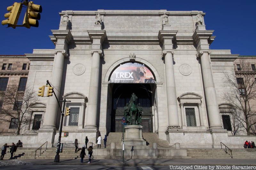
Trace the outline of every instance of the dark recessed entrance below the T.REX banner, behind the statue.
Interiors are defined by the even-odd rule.
[[[152,132],[152,85],[114,84],[112,88],[111,132],[122,132],[124,106],[129,103],[132,93],[138,97],[143,108],[141,125],[143,132]]]

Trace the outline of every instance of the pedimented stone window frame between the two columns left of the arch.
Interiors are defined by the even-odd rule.
[[[69,117],[65,116],[63,120],[63,130],[68,129],[83,129],[85,126],[86,118],[86,103],[88,102],[87,97],[80,92],[69,92],[62,96],[63,99],[71,100],[71,102],[66,102],[65,107],[79,107],[79,118],[77,126],[69,126]],[[70,109],[71,112],[71,109]]]

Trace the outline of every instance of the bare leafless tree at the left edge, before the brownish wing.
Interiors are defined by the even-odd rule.
[[[17,127],[17,135],[20,135],[20,130],[31,122],[29,113],[31,106],[37,102],[36,93],[32,88],[26,88],[23,92],[18,91],[16,85],[9,85],[5,92],[0,93],[0,100],[0,122],[11,122],[13,127]]]

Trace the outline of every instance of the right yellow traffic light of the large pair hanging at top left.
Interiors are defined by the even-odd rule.
[[[41,18],[41,12],[41,5],[36,5],[33,1],[29,1],[27,11],[23,20],[23,26],[27,28],[30,28],[30,26],[38,27],[38,20]]]

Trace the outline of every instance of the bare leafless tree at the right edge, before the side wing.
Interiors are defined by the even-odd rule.
[[[237,64],[237,71],[232,74],[224,73],[226,77],[226,86],[230,87],[230,92],[224,92],[224,99],[236,107],[238,112],[243,114],[235,114],[236,121],[242,123],[247,131],[247,135],[251,134],[252,128],[256,122],[256,71],[252,70],[251,63],[244,58],[239,58],[240,63]],[[251,131],[250,131],[251,130]]]

